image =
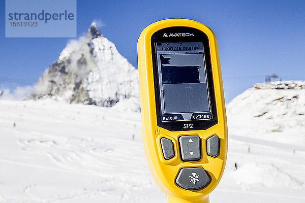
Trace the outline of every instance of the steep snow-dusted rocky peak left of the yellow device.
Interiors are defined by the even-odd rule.
[[[138,81],[138,70],[92,23],[86,37],[68,43],[29,98],[104,107],[126,99],[139,103]]]

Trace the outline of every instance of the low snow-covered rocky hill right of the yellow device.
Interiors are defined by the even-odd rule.
[[[305,145],[305,81],[256,84],[227,105],[227,115],[232,134]]]

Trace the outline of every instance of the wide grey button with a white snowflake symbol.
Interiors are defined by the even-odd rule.
[[[202,167],[182,168],[176,178],[176,183],[187,190],[198,190],[205,187],[210,180]]]

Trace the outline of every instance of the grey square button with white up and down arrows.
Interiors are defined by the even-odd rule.
[[[199,136],[181,136],[179,138],[181,159],[183,161],[196,161],[201,158]]]

